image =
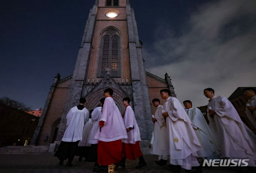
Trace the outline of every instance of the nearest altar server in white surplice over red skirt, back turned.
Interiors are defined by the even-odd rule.
[[[128,138],[122,115],[114,102],[113,90],[104,91],[105,101],[99,122],[99,129],[95,135],[98,140],[97,160],[102,167],[96,171],[108,171],[108,165],[122,160],[122,140]]]

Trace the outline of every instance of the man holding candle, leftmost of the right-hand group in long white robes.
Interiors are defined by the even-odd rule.
[[[159,99],[152,100],[153,106],[156,107],[155,115],[152,115],[154,122],[154,132],[151,140],[150,154],[158,155],[156,164],[163,166],[167,164],[169,158],[169,140],[167,136],[165,118],[162,116],[162,105]]]

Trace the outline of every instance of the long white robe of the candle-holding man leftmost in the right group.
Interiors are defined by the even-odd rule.
[[[165,118],[162,116],[162,105],[159,105],[155,111],[156,122],[154,123],[154,133],[152,136],[153,141],[151,143],[150,154],[159,156],[169,155],[169,140],[166,129]]]

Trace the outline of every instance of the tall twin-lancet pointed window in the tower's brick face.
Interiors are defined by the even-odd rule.
[[[103,46],[99,77],[104,77],[107,74],[107,70],[109,71],[110,76],[119,77],[119,37],[117,35],[113,35],[112,37],[105,35],[102,40]]]

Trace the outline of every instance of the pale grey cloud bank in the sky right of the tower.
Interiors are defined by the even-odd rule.
[[[246,30],[241,23],[226,28],[241,16],[256,21],[255,6],[255,1],[230,0],[199,7],[188,32],[176,37],[171,32],[155,41],[155,53],[144,51],[146,70],[159,77],[167,72],[178,99],[190,99],[194,106],[207,104],[204,88],[229,97],[239,86],[256,86],[256,24]],[[156,60],[165,64],[155,66]]]

